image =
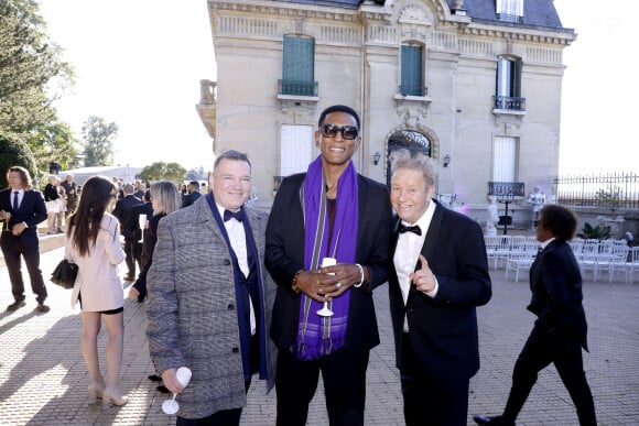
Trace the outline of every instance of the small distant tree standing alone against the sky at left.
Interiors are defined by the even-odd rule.
[[[113,164],[113,142],[118,125],[107,123],[101,117],[91,116],[83,124],[85,167]]]

